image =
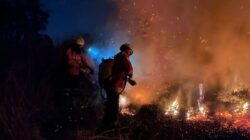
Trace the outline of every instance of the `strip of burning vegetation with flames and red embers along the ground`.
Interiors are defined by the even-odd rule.
[[[247,89],[231,91],[231,93],[228,93],[231,94],[230,98],[236,98],[238,102],[235,102],[234,100],[231,101],[229,97],[226,97],[225,99],[218,95],[217,98],[214,99],[218,108],[209,108],[209,102],[206,101],[207,92],[205,91],[203,84],[199,84],[198,89],[199,90],[196,93],[198,95],[198,98],[196,99],[197,102],[196,105],[194,104],[193,106],[183,106],[178,94],[173,94],[176,95],[176,97],[172,100],[162,98],[163,96],[168,98],[169,93],[164,93],[165,95],[162,95],[160,99],[157,99],[157,101],[154,101],[152,104],[157,105],[166,117],[171,117],[172,119],[185,120],[186,122],[217,122],[220,123],[223,128],[240,129],[250,133],[250,99],[246,96],[249,94]],[[136,92],[134,94],[136,94]],[[223,93],[223,95],[225,94],[226,93]],[[140,107],[137,105],[137,108],[135,108],[134,106],[136,104],[131,105],[133,103],[129,98],[124,95],[121,96],[121,114],[134,116]]]

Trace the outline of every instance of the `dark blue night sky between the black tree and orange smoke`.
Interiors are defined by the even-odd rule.
[[[46,33],[54,40],[83,33],[104,34],[107,21],[117,13],[116,5],[107,0],[41,0],[41,4],[50,15]]]

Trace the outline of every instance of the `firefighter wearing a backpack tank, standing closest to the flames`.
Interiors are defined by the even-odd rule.
[[[133,67],[129,57],[133,54],[130,44],[121,45],[114,59],[103,60],[99,66],[99,83],[107,94],[104,117],[97,133],[116,127],[119,113],[119,95],[124,91],[127,81],[132,85]]]

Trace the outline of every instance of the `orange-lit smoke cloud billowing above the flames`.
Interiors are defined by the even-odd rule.
[[[123,34],[130,38],[135,49],[134,74],[138,85],[129,87],[131,98],[140,95],[146,98],[143,103],[150,103],[160,89],[178,83],[176,95],[182,92],[183,100],[191,104],[191,98],[198,96],[199,83],[207,91],[249,86],[248,0],[119,0],[116,3],[120,9],[116,25],[125,29]],[[114,36],[118,36],[115,30]],[[142,87],[146,90],[141,91]],[[137,88],[140,92],[136,92]]]

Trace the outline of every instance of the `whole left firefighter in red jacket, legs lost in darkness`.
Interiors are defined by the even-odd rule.
[[[86,82],[85,75],[94,73],[94,64],[83,52],[85,44],[81,36],[74,37],[67,41],[62,47],[62,87],[59,87],[55,95],[55,109],[61,122],[76,122],[83,115],[83,106],[88,99],[88,87],[92,83]],[[59,81],[60,82],[60,81]],[[64,125],[66,123],[63,123]]]

